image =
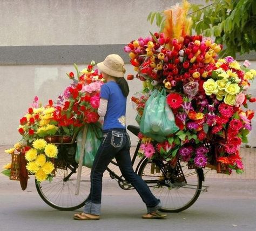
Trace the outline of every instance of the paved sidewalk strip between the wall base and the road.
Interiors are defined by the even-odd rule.
[[[11,162],[11,156],[6,154],[4,150],[6,148],[10,148],[11,146],[0,146],[0,169],[2,169],[3,165]],[[131,147],[131,154],[134,153],[135,147]],[[206,173],[207,178],[219,178],[219,179],[256,179],[256,148],[241,148],[241,157],[244,162],[245,172],[242,174],[232,173],[231,175],[226,174],[217,174],[215,170],[212,171],[204,171]],[[114,169],[114,171],[118,171],[118,167]],[[109,174],[106,172],[104,174],[105,177],[109,177]]]

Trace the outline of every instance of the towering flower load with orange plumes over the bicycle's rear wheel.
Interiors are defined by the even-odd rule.
[[[255,101],[246,91],[256,71],[240,66],[230,56],[218,59],[222,46],[211,38],[188,35],[187,11],[178,6],[165,11],[163,32],[124,47],[138,72],[136,77],[143,81],[142,94],[146,97],[164,87],[179,127],[162,143],[141,133],[140,152],[147,158],[159,158],[160,154],[166,161],[180,157],[196,167],[219,163],[225,165],[225,173],[232,169],[239,173],[243,169],[239,148],[247,142],[254,115],[242,106],[247,108],[248,101]],[[133,97],[132,101],[138,105],[139,117],[142,100]],[[208,143],[215,144],[214,148],[205,145]]]

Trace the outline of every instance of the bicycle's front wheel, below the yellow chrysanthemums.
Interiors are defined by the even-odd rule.
[[[77,184],[77,170],[72,167],[57,168],[53,180],[38,182],[36,189],[45,203],[58,210],[76,210],[84,206],[90,193],[91,169],[82,167],[80,187],[78,195],[75,195]]]

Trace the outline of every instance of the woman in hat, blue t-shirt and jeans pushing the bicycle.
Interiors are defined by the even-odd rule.
[[[104,117],[103,140],[99,146],[91,170],[91,189],[85,201],[84,212],[73,216],[76,220],[98,220],[102,199],[102,176],[113,158],[124,178],[137,190],[147,207],[145,219],[161,219],[166,215],[159,214],[160,200],[151,193],[146,183],[134,173],[130,157],[130,137],[126,132],[125,113],[126,97],[129,86],[124,79],[125,66],[123,59],[115,54],[109,55],[97,64],[106,83],[100,90],[98,114]]]

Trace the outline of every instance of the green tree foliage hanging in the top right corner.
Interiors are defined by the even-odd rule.
[[[205,8],[192,5],[191,11],[196,33],[213,36],[224,45],[220,56],[256,50],[256,1],[215,0]]]

